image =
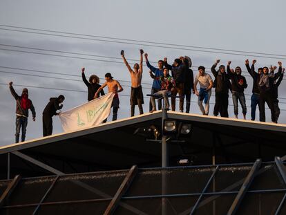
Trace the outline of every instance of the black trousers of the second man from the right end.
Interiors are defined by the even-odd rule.
[[[271,111],[271,121],[276,122],[274,113],[274,102],[271,96],[271,91],[260,92],[259,95],[259,120],[265,122],[265,102]]]

